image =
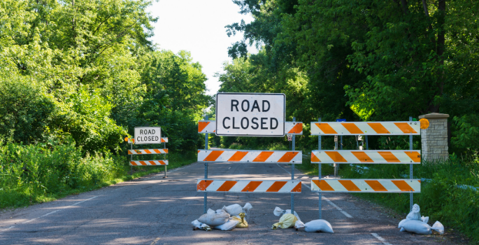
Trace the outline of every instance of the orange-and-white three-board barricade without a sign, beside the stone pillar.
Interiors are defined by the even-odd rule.
[[[311,191],[319,192],[319,215],[322,218],[322,193],[413,193],[421,192],[421,181],[413,179],[413,165],[420,164],[421,152],[413,150],[413,135],[420,135],[420,123],[406,122],[311,122],[311,135],[317,135],[318,150],[311,152],[311,163],[318,164],[318,179],[311,180]],[[322,150],[322,136],[408,135],[409,151]],[[367,139],[367,138],[366,138]],[[342,143],[342,139],[341,139]],[[366,143],[367,145],[367,143]],[[341,146],[342,149],[342,146]],[[322,164],[409,164],[410,179],[322,179]]]

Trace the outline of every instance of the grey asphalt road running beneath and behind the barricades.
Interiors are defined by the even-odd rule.
[[[275,164],[209,164],[211,179],[291,179],[291,167]],[[381,209],[345,194],[322,199],[322,217],[334,234],[294,229],[271,230],[273,209],[290,208],[289,194],[208,193],[208,208],[250,202],[249,228],[229,232],[192,230],[203,214],[196,179],[204,165],[194,163],[163,174],[0,214],[0,244],[450,244],[435,235],[399,232],[398,221]],[[318,195],[310,177],[295,195],[294,210],[304,223],[318,218]],[[434,222],[434,221],[433,221]]]

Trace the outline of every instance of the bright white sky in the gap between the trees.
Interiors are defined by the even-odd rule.
[[[224,26],[245,20],[251,15],[238,13],[239,6],[231,0],[159,0],[148,9],[158,18],[154,23],[155,36],[151,39],[159,48],[178,53],[190,51],[194,62],[203,66],[207,94],[216,94],[220,88],[216,72],[222,72],[223,63],[231,61],[228,47],[241,41],[243,34],[228,37]],[[251,53],[257,53],[253,46]]]

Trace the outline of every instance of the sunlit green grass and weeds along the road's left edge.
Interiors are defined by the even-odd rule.
[[[170,152],[167,159],[168,169],[175,169],[196,162],[196,152]],[[163,166],[133,169],[131,174],[126,156],[83,156],[68,145],[46,151],[38,146],[6,144],[0,146],[0,209],[50,202],[164,171]]]

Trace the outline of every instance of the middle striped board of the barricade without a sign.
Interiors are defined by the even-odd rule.
[[[312,151],[311,163],[420,164],[421,151]]]

